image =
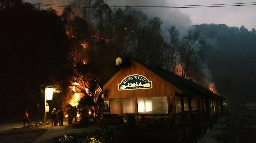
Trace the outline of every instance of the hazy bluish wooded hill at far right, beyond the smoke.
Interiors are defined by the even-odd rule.
[[[224,24],[193,25],[213,48],[205,55],[218,92],[237,104],[256,101],[256,31]]]

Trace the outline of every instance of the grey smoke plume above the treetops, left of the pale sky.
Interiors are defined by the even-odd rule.
[[[107,2],[109,6],[164,6],[164,5],[177,5],[176,3],[170,3],[167,0],[112,0]],[[168,30],[175,26],[179,30],[182,37],[187,33],[187,30],[192,25],[192,20],[188,13],[182,13],[178,8],[150,8],[150,9],[138,9],[148,15],[149,18],[159,17],[163,21],[162,31],[164,36],[168,37]]]

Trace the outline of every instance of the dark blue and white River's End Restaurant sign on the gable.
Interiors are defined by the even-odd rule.
[[[143,75],[129,75],[118,84],[118,90],[136,90],[152,88],[152,81]]]

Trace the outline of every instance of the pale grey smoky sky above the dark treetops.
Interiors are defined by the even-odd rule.
[[[74,4],[83,0],[24,0],[26,2],[48,3],[48,4]],[[208,5],[208,4],[228,4],[228,3],[249,3],[249,0],[107,0],[109,6],[170,6],[170,5]],[[42,7],[43,8],[43,7]],[[60,15],[63,7],[54,7]],[[175,25],[177,29],[186,31],[191,25],[203,23],[226,24],[229,27],[241,27],[244,25],[249,31],[256,28],[256,5],[252,6],[232,6],[213,8],[160,8],[160,9],[140,9],[149,18],[158,16],[163,23],[163,31]]]

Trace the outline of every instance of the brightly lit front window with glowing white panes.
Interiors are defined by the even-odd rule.
[[[138,113],[168,114],[167,96],[138,97]]]

